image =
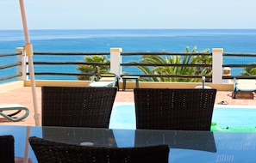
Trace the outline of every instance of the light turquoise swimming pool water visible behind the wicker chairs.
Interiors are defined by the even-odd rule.
[[[216,105],[212,122],[223,128],[255,128],[256,107]],[[115,103],[110,118],[110,129],[136,129],[133,103]]]

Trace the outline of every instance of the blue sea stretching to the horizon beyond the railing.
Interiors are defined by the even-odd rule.
[[[124,52],[184,52],[187,46],[190,50],[197,46],[197,51],[223,48],[224,52],[256,53],[256,29],[29,30],[29,38],[34,51],[109,52],[112,47],[121,47]],[[0,30],[0,53],[15,52],[16,47],[22,47],[24,44],[22,30]],[[40,59],[34,56],[34,61]],[[84,60],[83,57],[69,57],[69,59]],[[224,63],[240,62],[238,57],[228,57],[226,60],[224,58]],[[234,69],[232,75],[238,75],[240,72],[241,69]],[[36,79],[41,78],[49,79],[44,75],[36,77]]]

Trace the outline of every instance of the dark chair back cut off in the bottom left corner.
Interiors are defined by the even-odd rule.
[[[0,136],[0,162],[15,162],[13,136]]]

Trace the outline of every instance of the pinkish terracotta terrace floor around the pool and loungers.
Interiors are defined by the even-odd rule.
[[[37,95],[37,106],[39,112],[41,112],[41,88],[36,88]],[[0,94],[0,104],[20,104],[22,106],[28,107],[30,114],[28,118],[24,119],[21,122],[9,122],[5,118],[0,118],[0,124],[9,124],[9,125],[34,125],[34,106],[32,91],[30,87],[18,88],[6,93]],[[219,105],[221,101],[228,102],[228,105],[240,105],[240,106],[255,106],[256,108],[256,97],[254,95],[253,100],[245,99],[232,99],[231,91],[218,91],[216,94],[215,105]],[[134,102],[134,93],[133,90],[118,91],[116,94],[115,102]]]

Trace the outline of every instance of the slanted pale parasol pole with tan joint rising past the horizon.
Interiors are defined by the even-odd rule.
[[[30,40],[29,40],[28,26],[26,21],[23,0],[20,0],[20,7],[21,7],[21,13],[22,13],[23,31],[24,31],[24,36],[26,40],[25,51],[26,51],[26,55],[28,56],[29,75],[30,75],[30,82],[31,82],[32,96],[33,96],[33,103],[34,103],[34,122],[35,122],[35,125],[41,125],[41,115],[38,112],[37,100],[36,100],[36,89],[35,89],[36,86],[34,81],[34,63],[33,63],[34,52],[33,52],[33,46],[30,44]]]

